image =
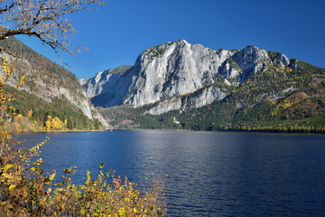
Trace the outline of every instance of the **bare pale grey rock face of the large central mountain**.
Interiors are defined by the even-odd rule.
[[[283,53],[246,46],[243,50],[213,51],[185,40],[168,42],[145,50],[132,68],[99,72],[95,78],[79,80],[96,107],[156,103],[148,112],[162,114],[173,109],[199,108],[227,96],[227,86],[244,82],[268,67],[291,64]],[[113,71],[113,70],[110,70]],[[223,83],[223,89],[213,84]],[[200,90],[200,91],[199,91]],[[199,91],[199,94],[191,95]],[[189,95],[180,103],[177,96]]]

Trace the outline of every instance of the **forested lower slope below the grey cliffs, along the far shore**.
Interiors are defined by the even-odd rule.
[[[145,114],[153,105],[101,109],[113,127],[268,132],[325,131],[325,70],[295,60],[301,67],[251,75],[228,87],[227,98],[200,109]],[[186,96],[182,96],[186,97]]]

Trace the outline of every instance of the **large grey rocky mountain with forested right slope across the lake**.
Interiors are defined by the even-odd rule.
[[[103,74],[81,84],[114,127],[325,130],[325,70],[281,52],[213,51],[181,40]]]

